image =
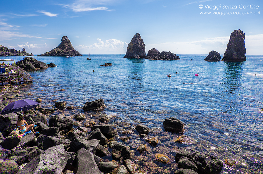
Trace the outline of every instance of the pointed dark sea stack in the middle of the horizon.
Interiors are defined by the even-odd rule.
[[[133,36],[124,58],[145,58],[145,44],[139,33]]]

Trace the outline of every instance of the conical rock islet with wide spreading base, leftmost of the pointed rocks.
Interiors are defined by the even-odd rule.
[[[67,36],[63,36],[61,39],[61,43],[54,49],[44,54],[40,54],[37,56],[82,56],[76,51],[71,45],[70,40]]]

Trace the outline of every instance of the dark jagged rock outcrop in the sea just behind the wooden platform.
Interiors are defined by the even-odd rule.
[[[25,57],[23,60],[18,61],[16,65],[26,71],[48,68],[46,63],[37,61],[33,57]]]

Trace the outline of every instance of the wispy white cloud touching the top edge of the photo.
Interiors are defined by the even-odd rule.
[[[94,10],[108,10],[108,7],[101,6],[101,7],[91,7],[92,5],[101,4],[100,1],[86,1],[86,0],[79,0],[74,2],[73,4],[60,4],[61,6],[65,8],[70,8],[71,10],[75,12],[82,12],[82,11],[94,11]]]

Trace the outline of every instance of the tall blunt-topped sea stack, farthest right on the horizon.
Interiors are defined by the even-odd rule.
[[[226,47],[222,61],[246,61],[245,34],[234,30]]]

